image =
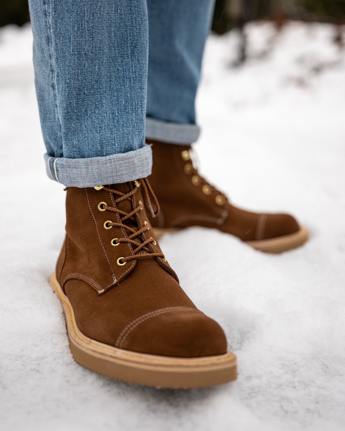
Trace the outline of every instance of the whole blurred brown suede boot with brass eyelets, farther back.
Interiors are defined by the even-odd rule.
[[[153,168],[149,177],[160,203],[151,219],[159,238],[188,226],[216,228],[257,250],[279,253],[299,247],[307,231],[287,214],[257,214],[231,205],[207,183],[191,162],[191,146],[147,141],[152,144]]]

